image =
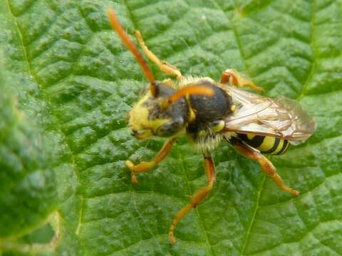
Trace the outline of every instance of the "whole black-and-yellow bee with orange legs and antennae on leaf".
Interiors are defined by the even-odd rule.
[[[184,134],[195,151],[203,154],[207,185],[199,188],[190,203],[176,213],[169,230],[172,245],[176,241],[174,230],[177,224],[212,191],[216,174],[210,151],[217,148],[220,142],[228,142],[239,154],[257,161],[261,170],[279,188],[299,196],[299,191],[284,184],[274,165],[263,155],[284,154],[290,144],[304,142],[314,133],[314,119],[298,102],[286,97],[271,99],[239,89],[250,87],[263,90],[233,69],[224,70],[219,82],[207,77],[183,77],[178,68],[157,58],[145,45],[141,33],[135,31],[147,58],[163,73],[177,78],[175,81],[157,81],[112,9],[108,10],[108,17],[150,82],[148,90],[128,113],[133,136],[138,139],[152,136],[167,138],[151,161],[140,164],[129,160],[125,162],[133,183],[138,182],[137,173],[147,171],[165,159],[172,144]]]

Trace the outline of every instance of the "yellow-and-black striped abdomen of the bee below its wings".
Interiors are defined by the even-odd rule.
[[[237,134],[237,137],[263,154],[284,154],[289,148],[289,141],[279,137],[254,134]]]

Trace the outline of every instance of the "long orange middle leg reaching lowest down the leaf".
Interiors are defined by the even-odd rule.
[[[215,165],[214,161],[212,161],[212,157],[209,154],[204,154],[204,163],[205,163],[205,171],[207,174],[208,184],[207,186],[203,186],[196,191],[192,197],[190,203],[188,203],[185,207],[178,211],[173,218],[172,225],[169,230],[169,237],[171,241],[171,245],[175,245],[176,239],[175,235],[173,235],[173,231],[175,230],[177,224],[182,220],[182,218],[190,212],[192,208],[196,208],[199,203],[212,191],[212,187],[214,186],[216,173],[215,173]]]

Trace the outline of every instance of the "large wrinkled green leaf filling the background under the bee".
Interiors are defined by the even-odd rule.
[[[130,136],[125,116],[147,81],[108,7],[183,75],[235,68],[267,96],[298,100],[316,133],[270,159],[301,196],[222,144],[214,190],[170,246],[173,216],[206,183],[202,156],[182,139],[130,182],[125,160],[152,158],[163,140]],[[341,0],[5,0],[0,20],[4,255],[342,254]],[[34,240],[46,223],[51,242]]]

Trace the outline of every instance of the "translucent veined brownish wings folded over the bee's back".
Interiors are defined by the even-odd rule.
[[[224,90],[237,105],[224,130],[281,137],[291,144],[304,142],[315,132],[314,119],[296,100],[284,96],[271,99],[232,86],[224,86]]]

